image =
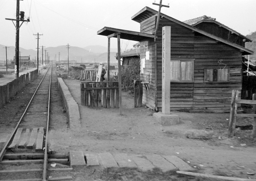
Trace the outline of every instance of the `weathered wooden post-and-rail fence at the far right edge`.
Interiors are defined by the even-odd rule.
[[[237,90],[232,91],[231,97],[231,106],[230,106],[230,117],[229,117],[229,126],[228,126],[228,136],[234,136],[234,131],[236,129],[236,119],[237,117],[253,117],[254,118],[254,125],[252,131],[252,137],[256,138],[256,114],[237,114],[237,107],[238,104],[253,104],[256,105],[256,96],[254,94],[254,100],[244,100],[238,99],[239,92]],[[255,106],[254,106],[254,113],[255,113]]]

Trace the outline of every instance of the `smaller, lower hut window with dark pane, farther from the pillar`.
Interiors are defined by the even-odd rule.
[[[205,82],[228,82],[229,68],[205,68],[204,69]]]

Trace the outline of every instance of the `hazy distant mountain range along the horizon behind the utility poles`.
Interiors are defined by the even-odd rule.
[[[2,48],[3,47],[3,48]],[[5,56],[5,46],[4,45],[0,45],[0,60],[6,60],[6,56]],[[7,46],[10,48],[7,48],[7,59],[8,60],[13,60],[13,57],[15,56],[15,47],[14,46]],[[94,50],[97,50],[97,47],[100,50],[100,47],[102,48],[102,46],[88,46],[88,47],[94,47]],[[104,52],[101,52],[103,50],[106,50]],[[48,56],[50,57],[50,60],[55,60],[55,55],[56,55],[56,60],[58,61],[60,60],[68,60],[68,49],[67,46],[63,45],[63,46],[58,46],[58,47],[46,47],[43,49],[43,60],[45,61],[45,50],[46,50],[46,57],[47,57],[47,53]],[[113,50],[113,49],[112,49]],[[30,60],[35,60],[35,58],[37,58],[37,50],[26,50],[24,48],[19,47],[19,51],[20,51],[20,56],[29,56],[30,55]],[[108,50],[106,47],[103,47],[102,50],[100,51],[96,51],[93,52],[92,50],[86,50],[84,48],[80,48],[80,47],[73,47],[70,46],[69,49],[69,60],[75,60],[77,62],[107,62],[108,61]],[[60,53],[60,55],[59,55]],[[115,55],[116,52],[111,52],[111,59],[110,62],[111,63],[116,63],[116,59],[115,59]],[[42,47],[41,49],[39,49],[39,61],[40,59],[42,60]]]

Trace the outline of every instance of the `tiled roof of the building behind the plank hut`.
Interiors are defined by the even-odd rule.
[[[238,33],[237,31],[227,27],[226,25],[216,21],[216,18],[212,18],[212,17],[209,17],[209,16],[200,16],[198,18],[194,18],[194,19],[189,19],[189,20],[186,20],[186,21],[183,21],[184,23],[186,24],[189,24],[190,26],[196,26],[197,24],[201,23],[201,22],[212,22],[212,23],[216,23],[218,24],[219,26],[231,31],[232,33],[235,33],[237,34],[238,36],[241,36],[242,38],[246,39],[248,42],[252,42],[252,40],[250,40],[249,38],[247,38],[246,36],[242,35],[241,33]]]

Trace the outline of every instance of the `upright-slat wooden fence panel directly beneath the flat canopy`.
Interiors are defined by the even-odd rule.
[[[81,105],[90,107],[119,108],[118,81],[82,82]]]

